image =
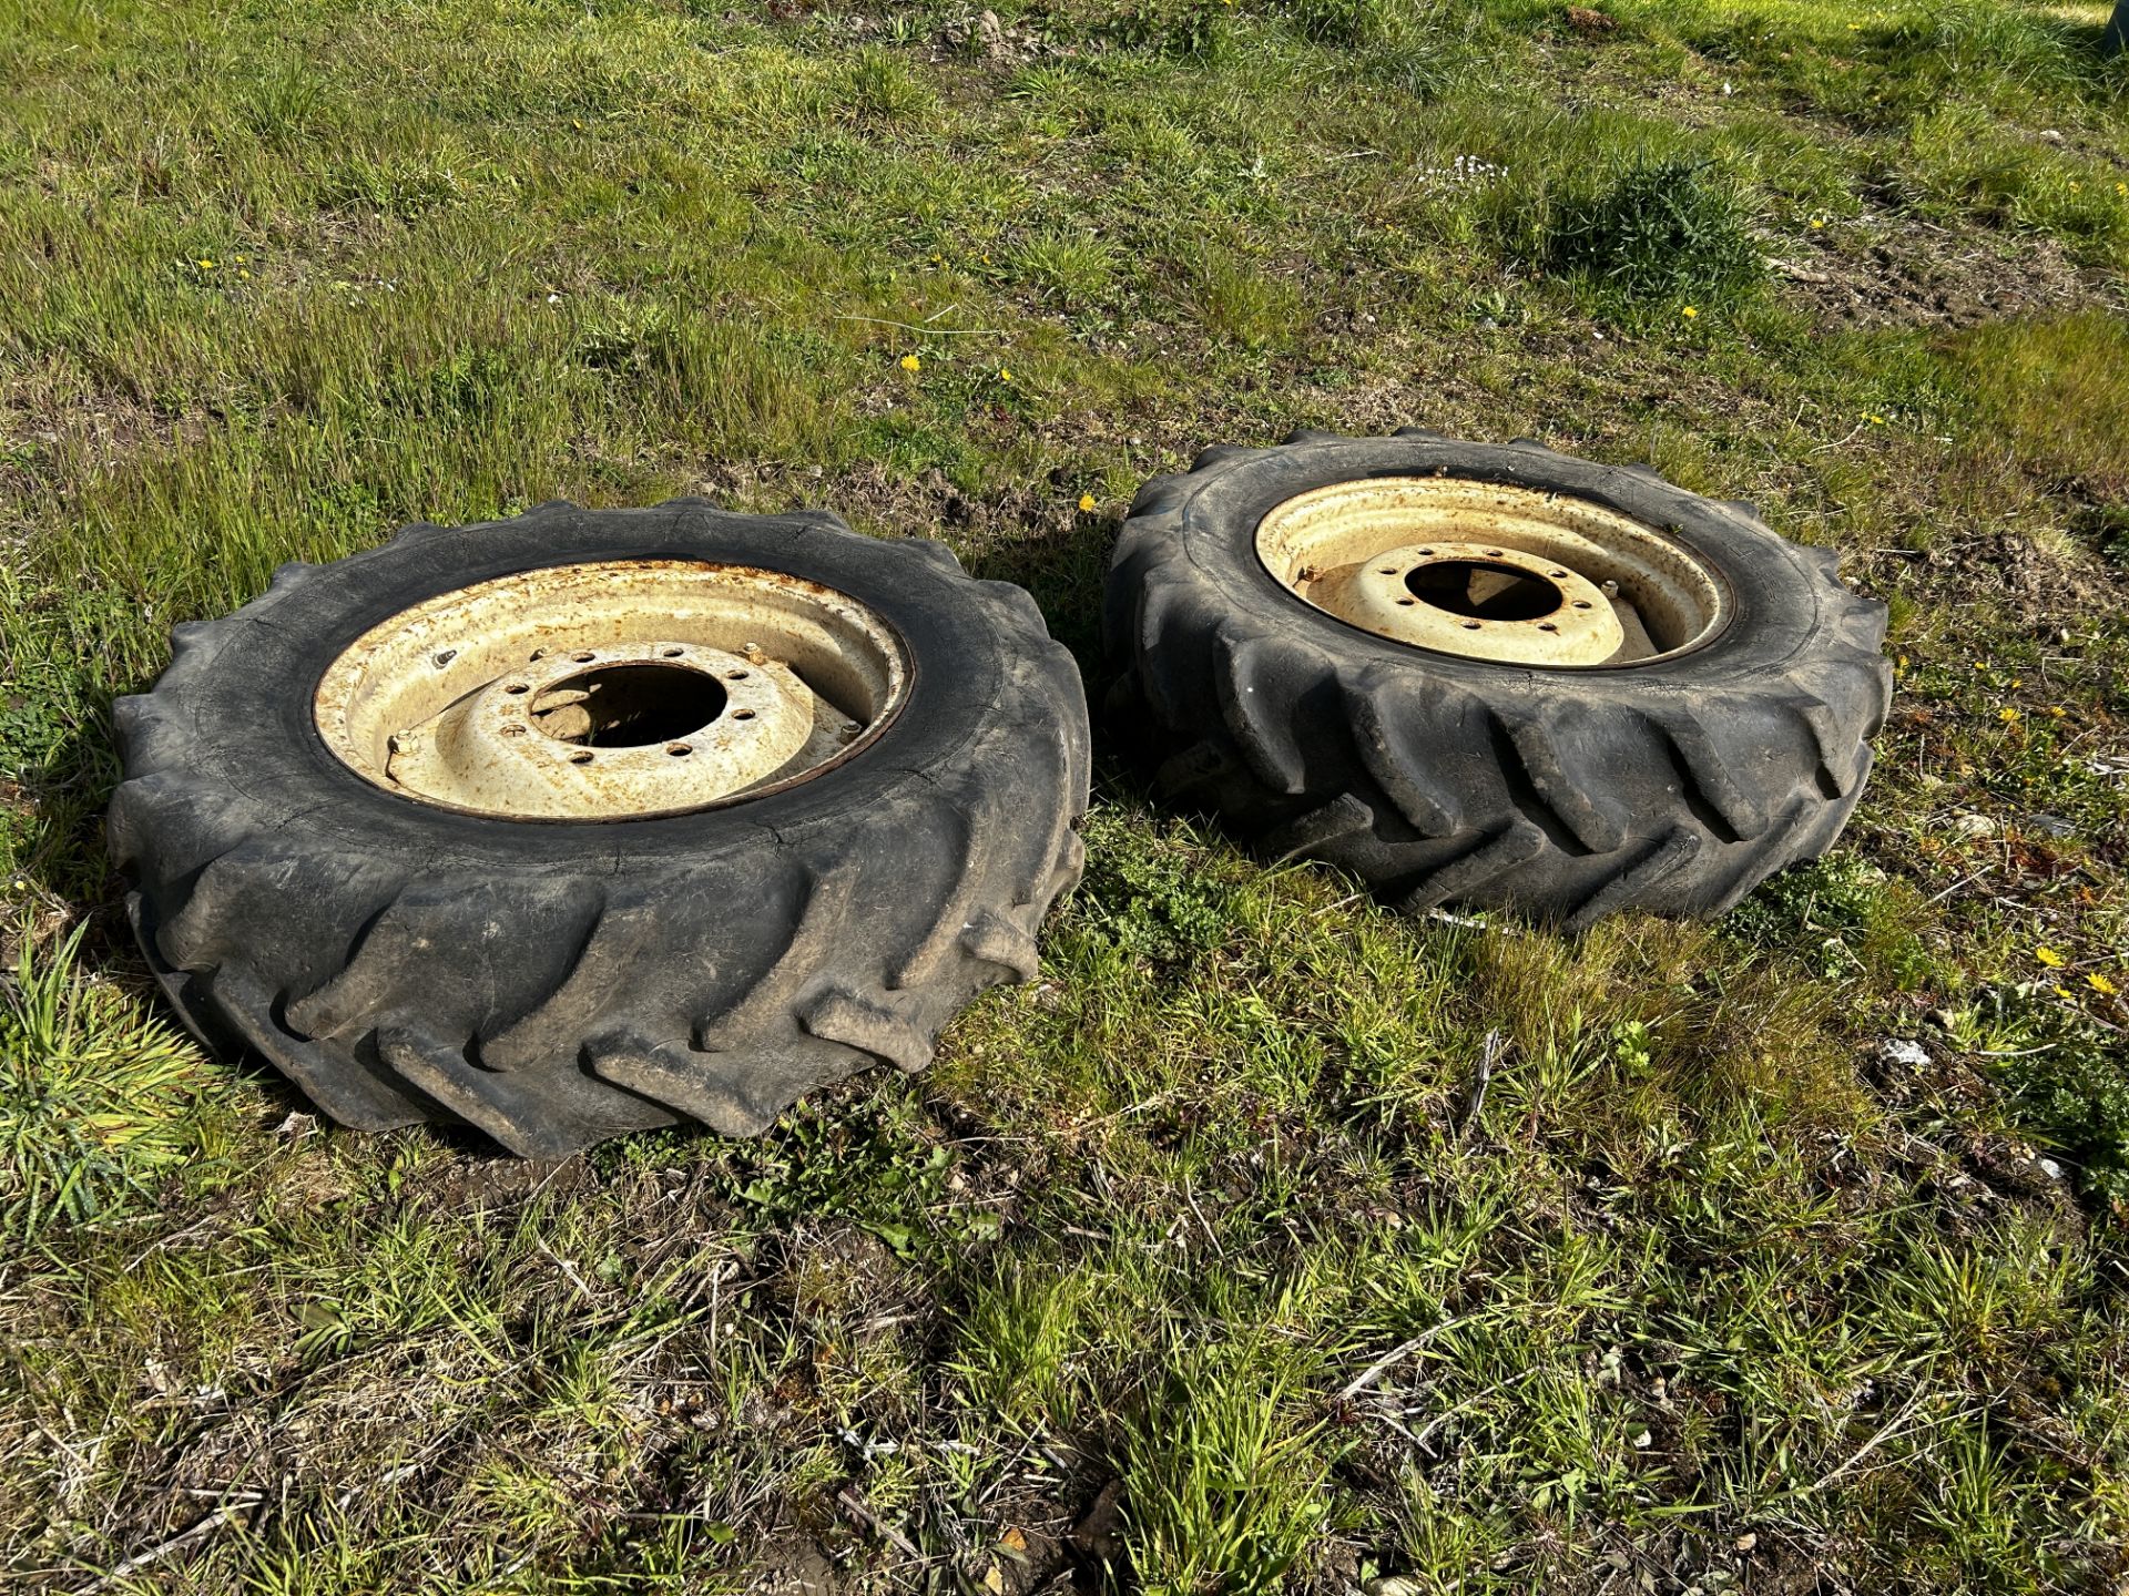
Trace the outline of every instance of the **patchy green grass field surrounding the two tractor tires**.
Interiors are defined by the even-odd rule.
[[[2103,19],[0,0],[0,1585],[2123,1590]],[[560,1168],[149,992],[109,702],[283,560],[830,504],[1099,702],[1141,479],[1407,421],[1844,551],[1899,696],[1827,860],[1403,921],[1111,762],[926,1079]]]

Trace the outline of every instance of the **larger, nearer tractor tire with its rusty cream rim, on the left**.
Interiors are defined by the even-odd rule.
[[[115,709],[141,949],[362,1130],[756,1134],[922,1070],[1082,870],[1086,700],[1033,600],[820,511],[411,526],[172,649]]]

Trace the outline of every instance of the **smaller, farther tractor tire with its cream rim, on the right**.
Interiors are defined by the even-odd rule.
[[[1822,853],[1893,681],[1884,606],[1750,504],[1418,428],[1154,479],[1103,621],[1158,796],[1412,913],[1569,930]]]

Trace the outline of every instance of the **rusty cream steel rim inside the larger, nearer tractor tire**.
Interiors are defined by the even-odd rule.
[[[543,566],[356,638],[313,717],[364,781],[500,819],[683,815],[809,781],[909,694],[894,630],[847,594],[703,560]]]

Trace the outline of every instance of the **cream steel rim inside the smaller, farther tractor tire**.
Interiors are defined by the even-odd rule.
[[[1499,664],[1646,664],[1729,624],[1714,568],[1590,500],[1456,477],[1363,477],[1275,504],[1256,558],[1392,643]]]

